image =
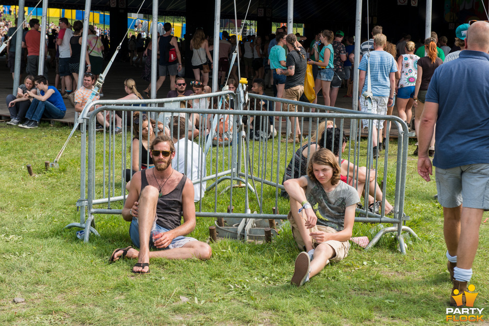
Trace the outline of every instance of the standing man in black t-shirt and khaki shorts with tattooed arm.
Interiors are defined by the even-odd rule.
[[[277,69],[277,74],[287,76],[284,87],[284,99],[298,101],[304,93],[304,77],[307,68],[305,50],[297,41],[297,37],[294,34],[287,35],[286,41],[287,48],[289,49],[286,61],[287,69]],[[296,112],[297,106],[293,104],[284,104],[284,111]],[[299,119],[297,117],[290,117],[289,119],[292,133],[287,142],[300,143],[301,133]],[[284,139],[282,141],[286,140]]]

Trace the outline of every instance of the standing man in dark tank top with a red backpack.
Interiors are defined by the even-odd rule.
[[[176,41],[176,37],[171,35],[171,24],[166,22],[163,25],[163,29],[165,30],[165,34],[160,36],[158,40],[158,49],[160,51],[160,78],[156,82],[156,92],[165,82],[166,75],[170,75],[170,90],[175,90],[175,77],[178,71],[182,69],[182,58],[180,56],[180,50],[178,49],[178,42]],[[168,62],[168,58],[165,53],[169,53],[170,49],[175,48],[176,59],[173,62]]]

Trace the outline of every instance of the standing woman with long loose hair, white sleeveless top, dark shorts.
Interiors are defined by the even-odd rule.
[[[209,71],[203,71],[203,65],[207,64],[209,58],[211,64],[209,68],[212,68],[212,56],[209,51],[209,42],[205,39],[204,31],[201,28],[195,30],[195,34],[190,40],[190,49],[192,54],[192,70],[194,72],[195,79],[200,80],[204,86],[209,84]],[[200,78],[202,75],[202,79]]]

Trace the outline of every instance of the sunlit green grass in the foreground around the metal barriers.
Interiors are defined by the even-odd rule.
[[[100,237],[91,236],[88,244],[76,238],[75,229],[63,229],[79,221],[79,133],[60,168],[44,170],[69,131],[45,122],[31,130],[0,124],[0,325],[447,324],[451,283],[442,208],[433,199],[434,182],[418,176],[415,156],[408,157],[405,212],[406,225],[420,239],[411,239],[407,255],[390,235],[369,252],[353,244],[347,259],[297,288],[289,284],[298,251],[288,228],[271,244],[211,243],[209,261],[151,260],[146,276],[130,272],[135,261],[109,265],[115,248],[131,244],[120,215],[97,215]],[[391,142],[391,154],[395,150]],[[37,177],[29,176],[27,164]],[[233,196],[239,200],[243,192],[234,189]],[[218,211],[225,211],[227,196],[219,197]],[[203,209],[213,211],[213,205],[214,194],[206,196]],[[274,196],[266,205],[268,212]],[[285,213],[287,201],[280,199],[279,207]],[[484,213],[483,221],[488,217]],[[198,218],[191,236],[208,241],[213,223]],[[473,267],[478,308],[489,306],[488,224],[482,223]],[[371,237],[376,227],[356,223],[354,233]],[[25,301],[13,303],[15,297]]]

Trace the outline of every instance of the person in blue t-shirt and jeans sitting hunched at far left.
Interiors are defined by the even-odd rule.
[[[66,106],[61,93],[56,87],[48,85],[46,77],[36,76],[34,85],[39,90],[39,95],[32,90],[24,94],[24,97],[32,98],[32,102],[25,114],[27,120],[18,125],[21,128],[37,128],[41,118],[63,119],[66,113]]]

